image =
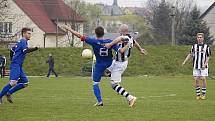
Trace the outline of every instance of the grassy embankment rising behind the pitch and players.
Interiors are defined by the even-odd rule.
[[[190,46],[146,46],[148,56],[142,56],[133,49],[125,75],[189,75],[192,74],[191,61],[184,68],[181,63],[190,50]],[[56,71],[60,75],[82,75],[82,65],[89,61],[81,58],[83,48],[48,48],[29,54],[24,69],[28,75],[45,75],[48,65],[45,63],[49,53],[55,57]],[[213,49],[212,49],[213,50]],[[0,49],[8,55],[8,51]],[[214,55],[213,55],[214,57]],[[210,72],[215,73],[215,60],[210,60]]]

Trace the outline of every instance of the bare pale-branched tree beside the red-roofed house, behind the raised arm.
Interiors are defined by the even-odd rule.
[[[82,0],[65,0],[65,3],[71,7],[71,13],[77,13],[70,16],[71,22],[68,22],[68,24],[71,28],[79,30],[80,23],[76,20],[80,15],[85,20],[83,23],[84,33],[92,34],[91,30],[94,29],[99,22],[98,20],[101,15],[100,9],[96,5],[87,4]],[[71,46],[73,46],[75,40],[74,36],[68,35],[68,38],[70,39]]]

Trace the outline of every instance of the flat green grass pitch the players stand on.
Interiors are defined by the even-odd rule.
[[[0,88],[8,82],[0,81]],[[196,100],[191,76],[124,77],[122,85],[138,97],[134,108],[101,83],[104,107],[93,107],[89,77],[30,78],[30,86],[4,98],[0,121],[215,121],[215,80],[208,80],[207,99]]]

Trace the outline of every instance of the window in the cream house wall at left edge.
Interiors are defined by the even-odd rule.
[[[0,33],[11,34],[12,33],[12,22],[0,22]]]

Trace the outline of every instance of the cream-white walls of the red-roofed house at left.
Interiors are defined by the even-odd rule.
[[[39,46],[44,47],[44,35],[45,32],[42,31],[17,5],[13,0],[8,0],[9,7],[7,12],[7,17],[5,22],[12,22],[12,35],[19,32],[19,36],[16,39],[21,38],[21,29],[23,27],[29,27],[33,29],[32,38],[29,41],[29,47]],[[64,24],[64,22],[59,22],[59,25]],[[78,32],[83,34],[83,23],[79,23]],[[68,35],[58,36],[58,47],[70,47],[71,33]],[[80,42],[79,38],[75,38],[75,47],[83,47],[83,43]],[[48,34],[45,37],[45,47],[56,47],[56,35]]]

